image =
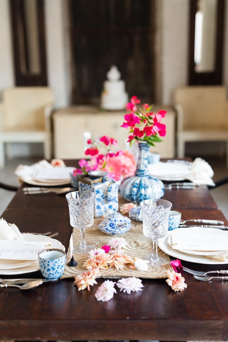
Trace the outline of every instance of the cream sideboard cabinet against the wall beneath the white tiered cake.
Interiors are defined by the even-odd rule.
[[[159,152],[162,158],[175,156],[175,111],[171,107],[153,107],[153,111],[167,111],[163,123],[166,124],[164,142],[151,147],[151,152]],[[103,111],[92,106],[75,106],[58,109],[53,114],[54,123],[54,157],[76,159],[84,157],[82,134],[90,132],[95,136],[107,135],[118,141],[118,148],[124,149],[128,130],[120,127],[124,121],[125,111]]]

